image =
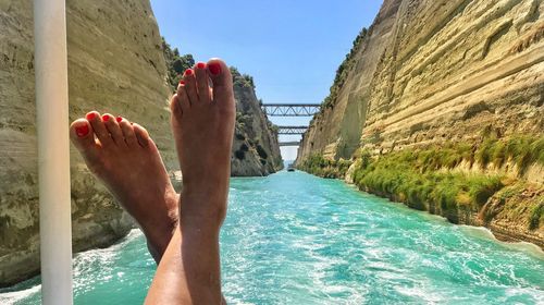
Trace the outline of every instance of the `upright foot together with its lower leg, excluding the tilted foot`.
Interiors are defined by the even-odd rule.
[[[220,304],[219,232],[226,213],[235,118],[226,64],[213,59],[188,70],[171,107],[184,175],[181,230],[159,264],[146,304]]]

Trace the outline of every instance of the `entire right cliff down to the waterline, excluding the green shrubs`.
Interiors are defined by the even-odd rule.
[[[343,72],[346,77],[333,85],[334,98],[327,100],[305,134],[297,164],[316,168],[307,160],[320,160],[318,168],[324,167],[320,171],[327,172],[341,159],[360,160],[363,151],[375,159],[393,151],[413,151],[416,156],[421,152],[418,149],[453,145],[465,155],[452,155],[454,164],[445,161],[447,166],[440,164],[435,170],[446,167],[447,171],[455,171],[457,163],[465,160],[469,172],[514,178],[524,185],[516,188],[522,195],[519,197],[532,194],[506,204],[492,197],[489,206],[494,205],[493,200],[503,202],[495,205],[498,211],[493,216],[500,219],[462,222],[483,223],[492,229],[502,223],[503,229],[495,229],[499,234],[509,231],[503,235],[542,240],[539,215],[544,203],[537,203],[542,199],[537,195],[543,187],[539,179],[542,166],[536,163],[544,135],[543,13],[541,0],[385,0],[373,25],[355,46],[347,71]],[[509,148],[500,143],[519,149],[505,157]],[[496,149],[490,152],[486,145]],[[526,154],[529,150],[532,152]],[[519,164],[509,169],[487,164],[492,155],[497,158],[495,162],[518,160]],[[474,160],[478,158],[485,159],[484,163],[479,164],[482,160]],[[385,158],[374,167],[387,162]],[[528,170],[520,170],[519,166]],[[351,180],[355,167],[360,163],[348,171]],[[399,173],[406,169],[398,169]],[[378,173],[368,169],[364,174],[373,170]],[[403,192],[395,196],[391,190],[376,191],[387,183],[360,186],[408,200]],[[529,204],[534,206],[531,216]],[[507,230],[519,224],[518,220],[506,219],[506,211],[512,209],[524,210],[519,212],[523,218],[535,217],[537,229]],[[474,208],[473,218],[478,212]]]

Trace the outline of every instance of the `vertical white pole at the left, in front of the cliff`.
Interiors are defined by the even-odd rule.
[[[34,0],[42,304],[72,304],[72,228],[64,0]]]

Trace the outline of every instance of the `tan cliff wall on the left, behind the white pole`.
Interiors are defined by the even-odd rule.
[[[92,109],[122,114],[145,125],[164,161],[176,164],[165,63],[149,1],[67,1],[66,14],[70,119]],[[0,285],[39,271],[32,17],[32,1],[0,0]],[[71,164],[74,251],[124,236],[133,221],[74,147]]]

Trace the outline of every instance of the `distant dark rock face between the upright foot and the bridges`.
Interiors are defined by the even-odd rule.
[[[261,176],[283,168],[277,133],[261,110],[250,76],[232,71],[236,130],[231,157],[233,176]]]

